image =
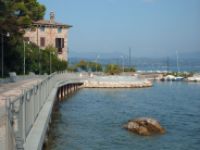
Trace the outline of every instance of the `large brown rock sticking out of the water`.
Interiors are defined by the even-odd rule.
[[[153,118],[138,118],[130,120],[124,125],[124,128],[143,136],[165,133],[165,129]]]

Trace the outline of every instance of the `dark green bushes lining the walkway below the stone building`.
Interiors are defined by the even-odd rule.
[[[62,71],[67,69],[67,62],[59,60],[57,53],[53,48],[47,48],[40,50],[39,47],[33,43],[25,44],[25,58],[26,58],[26,74],[29,72],[39,73],[39,61],[40,61],[40,74],[50,73],[50,54],[51,54],[51,66],[52,71]],[[15,71],[17,74],[23,74],[24,65],[24,43],[19,42],[12,51],[4,52],[4,67],[5,75],[9,72]],[[39,60],[40,58],[40,60]],[[0,69],[1,71],[1,69]]]

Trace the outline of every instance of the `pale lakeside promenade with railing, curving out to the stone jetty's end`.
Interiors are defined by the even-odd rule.
[[[150,87],[133,76],[89,76],[58,72],[0,84],[0,147],[41,150],[54,104],[80,88]]]

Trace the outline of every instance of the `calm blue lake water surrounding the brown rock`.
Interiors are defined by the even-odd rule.
[[[164,135],[142,137],[122,128],[154,117]],[[155,83],[144,89],[81,89],[54,112],[48,150],[199,150],[200,84]]]

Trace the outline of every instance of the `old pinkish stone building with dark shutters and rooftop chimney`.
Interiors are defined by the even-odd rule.
[[[33,26],[25,31],[25,40],[37,44],[41,49],[55,47],[58,58],[67,61],[68,30],[72,26],[56,22],[54,12],[50,13],[50,20],[33,22]]]

